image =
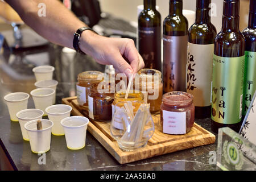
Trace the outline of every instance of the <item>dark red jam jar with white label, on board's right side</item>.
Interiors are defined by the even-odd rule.
[[[188,133],[195,122],[193,96],[185,92],[163,95],[160,106],[160,127],[163,133],[182,135]]]

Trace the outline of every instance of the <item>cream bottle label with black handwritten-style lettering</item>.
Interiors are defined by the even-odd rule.
[[[188,43],[187,92],[197,107],[210,106],[214,44]]]

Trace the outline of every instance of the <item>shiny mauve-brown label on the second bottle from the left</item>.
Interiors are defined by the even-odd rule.
[[[187,92],[188,36],[163,35],[164,92]]]

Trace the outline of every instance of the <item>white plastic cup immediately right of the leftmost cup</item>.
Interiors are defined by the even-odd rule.
[[[44,116],[47,115],[46,108],[52,105],[54,93],[55,90],[51,88],[40,88],[30,92],[34,100],[35,108],[43,110]]]

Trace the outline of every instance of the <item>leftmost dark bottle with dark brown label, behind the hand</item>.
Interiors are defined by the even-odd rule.
[[[155,0],[144,0],[144,10],[139,14],[139,53],[145,67],[162,72],[161,61],[161,15]]]

